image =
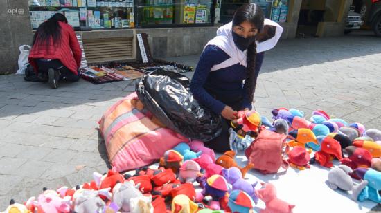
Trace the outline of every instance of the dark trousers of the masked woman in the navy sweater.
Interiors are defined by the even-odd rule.
[[[222,97],[216,97],[213,95],[217,100],[220,100],[224,104],[227,104],[229,107],[231,107],[233,110],[240,111],[242,110],[242,97],[236,97],[235,100],[224,100]],[[231,127],[230,124],[231,120],[227,120],[222,118],[222,131],[220,136],[217,138],[214,138],[210,140],[209,142],[205,142],[205,146],[213,149],[215,152],[218,153],[224,153],[225,151],[230,150],[230,144],[229,144],[229,128]]]

